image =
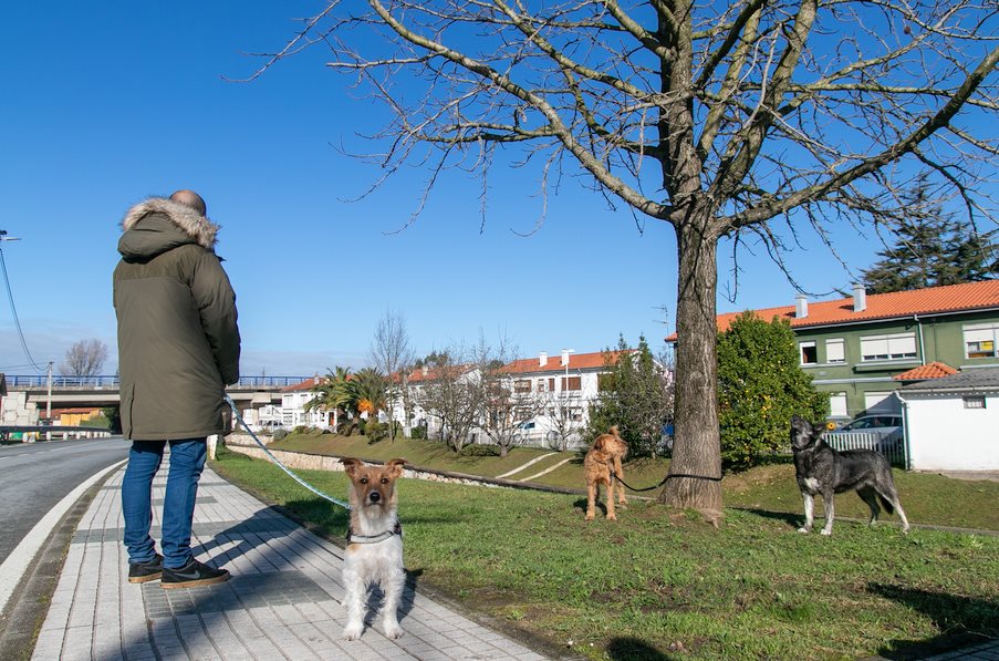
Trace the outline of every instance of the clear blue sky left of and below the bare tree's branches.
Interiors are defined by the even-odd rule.
[[[119,221],[148,195],[194,188],[222,225],[218,252],[238,295],[242,372],[311,374],[365,364],[391,308],[419,353],[479,332],[522,355],[599,351],[673,330],[676,242],[565,180],[544,224],[537,178],[501,173],[480,231],[479,183],[449,173],[415,225],[427,174],[407,172],[362,202],[379,175],[331,145],[364,152],[379,111],[316,50],[252,83],[248,52],[279,49],[320,2],[4,2],[0,9],[0,229],[29,349],[56,364],[71,343],[112,349],[111,273]],[[876,240],[840,227],[855,269]],[[791,257],[810,291],[851,276],[815,242]],[[811,242],[809,242],[811,241]],[[738,296],[721,247],[719,312],[790,304],[794,289],[764,252],[741,255]],[[668,309],[669,324],[662,323]],[[0,371],[33,373],[0,301]]]

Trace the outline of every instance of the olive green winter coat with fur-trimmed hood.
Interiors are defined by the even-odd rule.
[[[215,254],[219,227],[153,197],[122,223],[114,270],[122,431],[197,438],[226,431],[225,386],[239,380],[236,295]]]

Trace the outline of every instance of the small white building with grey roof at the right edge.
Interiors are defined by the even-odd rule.
[[[903,386],[909,467],[999,471],[999,368]]]

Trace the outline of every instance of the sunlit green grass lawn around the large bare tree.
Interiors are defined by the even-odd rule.
[[[355,456],[447,459],[447,451],[427,442],[361,443]],[[337,442],[331,452],[351,454],[345,446]],[[519,461],[531,452],[517,451]],[[471,457],[459,461],[464,469],[448,469],[482,473]],[[489,461],[495,474],[508,459]],[[571,484],[571,466],[550,475]],[[320,533],[335,538],[346,529],[343,510],[267,462],[222,452],[212,467]],[[658,482],[663,466],[654,467],[625,469],[636,482],[643,471]],[[958,634],[999,636],[999,538],[923,529],[904,536],[895,526],[850,521],[837,523],[832,537],[800,535],[788,469],[727,477],[730,508],[718,529],[643,500],[617,523],[587,524],[577,495],[404,479],[406,568],[417,586],[590,659],[904,658]],[[334,496],[346,494],[342,473],[301,474]],[[898,481],[915,523],[925,523],[916,512],[986,512],[999,494],[991,483],[906,474]],[[837,510],[851,499],[860,503],[844,494]],[[978,515],[967,520],[985,527]]]

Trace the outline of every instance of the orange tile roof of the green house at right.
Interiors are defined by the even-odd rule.
[[[927,287],[909,291],[892,293],[868,293],[865,310],[855,312],[853,297],[832,301],[809,301],[807,317],[794,316],[794,306],[764,308],[752,310],[757,317],[770,321],[774,317],[787,319],[791,328],[831,326],[853,323],[856,321],[875,321],[880,319],[897,319],[913,314],[937,314],[943,312],[965,312],[970,310],[988,310],[999,308],[999,280],[982,280],[965,285],[947,285]],[[725,331],[736,317],[742,312],[719,314],[718,331]],[[673,333],[666,341],[676,341]]]

